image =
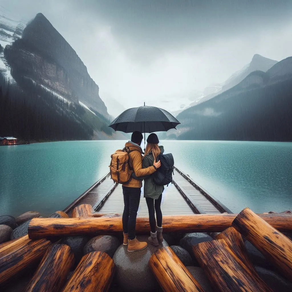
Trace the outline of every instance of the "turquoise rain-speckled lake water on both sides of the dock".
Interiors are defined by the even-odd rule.
[[[0,215],[63,210],[109,171],[125,141],[0,147]],[[237,213],[292,210],[292,143],[161,141],[175,165]]]

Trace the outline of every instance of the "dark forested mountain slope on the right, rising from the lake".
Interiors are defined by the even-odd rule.
[[[292,141],[292,57],[178,115],[183,140]],[[174,136],[175,135],[175,136]]]

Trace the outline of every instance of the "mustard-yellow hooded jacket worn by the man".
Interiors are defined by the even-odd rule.
[[[130,166],[134,169],[134,173],[137,177],[150,175],[156,171],[155,167],[149,166],[147,168],[142,168],[142,148],[140,146],[136,146],[131,142],[127,142],[125,147],[129,147],[132,151],[129,153],[130,157]],[[124,187],[142,187],[142,180],[136,180],[132,178],[129,183],[123,184]]]

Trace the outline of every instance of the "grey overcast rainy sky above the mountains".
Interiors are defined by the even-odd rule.
[[[43,13],[86,65],[113,111],[179,109],[254,54],[292,55],[291,0],[1,0],[25,19]]]

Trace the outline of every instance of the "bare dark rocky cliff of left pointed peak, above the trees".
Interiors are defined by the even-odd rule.
[[[69,101],[82,102],[108,117],[99,88],[77,53],[39,13],[23,30],[22,38],[6,48],[15,79],[25,77]]]

